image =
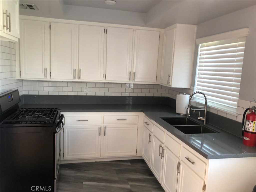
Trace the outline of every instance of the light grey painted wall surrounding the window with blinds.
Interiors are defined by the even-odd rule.
[[[236,29],[249,27],[244,50],[239,99],[256,99],[256,6],[248,7],[197,26],[196,38],[207,37]],[[195,86],[198,45],[195,47],[192,86]]]

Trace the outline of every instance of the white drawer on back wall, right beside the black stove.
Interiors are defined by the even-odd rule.
[[[65,125],[101,124],[102,116],[66,116]]]

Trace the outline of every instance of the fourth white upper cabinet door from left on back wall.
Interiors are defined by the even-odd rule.
[[[106,80],[130,81],[133,29],[108,27]]]

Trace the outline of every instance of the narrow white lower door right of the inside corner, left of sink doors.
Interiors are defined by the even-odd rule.
[[[150,167],[151,149],[152,149],[151,140],[152,140],[152,133],[146,127],[143,127],[142,157],[149,167]]]

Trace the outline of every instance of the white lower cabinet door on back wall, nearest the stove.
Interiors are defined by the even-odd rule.
[[[65,126],[64,159],[100,157],[100,126]]]

